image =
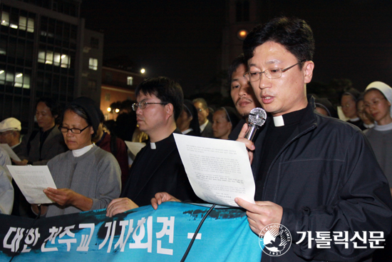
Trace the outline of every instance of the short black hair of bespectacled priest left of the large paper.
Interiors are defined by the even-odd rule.
[[[180,116],[182,104],[184,103],[184,94],[180,84],[176,81],[165,76],[146,79],[136,88],[135,96],[139,96],[140,92],[145,95],[154,95],[163,103],[172,104],[175,121]]]

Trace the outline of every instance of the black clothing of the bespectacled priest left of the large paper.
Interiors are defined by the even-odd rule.
[[[180,133],[178,129],[175,133]],[[150,150],[150,141],[136,155],[121,197],[128,197],[138,206],[150,205],[158,192],[167,192],[181,201],[199,202],[182,165],[174,136],[159,141]]]

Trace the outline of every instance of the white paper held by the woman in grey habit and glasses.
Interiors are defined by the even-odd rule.
[[[43,189],[56,188],[48,166],[9,166],[9,172],[29,203],[53,203]]]

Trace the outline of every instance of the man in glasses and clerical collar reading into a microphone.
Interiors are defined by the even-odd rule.
[[[292,233],[287,253],[262,261],[359,261],[375,250],[368,243],[346,248],[332,241],[323,249],[311,239],[297,244],[297,232],[346,231],[350,239],[354,232],[382,231],[385,238],[391,232],[391,193],[368,141],[355,126],[315,114],[314,99],[306,96],[313,54],[312,31],[300,19],[273,19],[244,40],[245,76],[272,117],[255,143],[243,138],[246,126],[239,134],[254,151],[256,203],[236,200],[257,235],[271,223]]]

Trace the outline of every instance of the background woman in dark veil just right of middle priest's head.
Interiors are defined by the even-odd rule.
[[[197,109],[192,101],[185,99],[182,106],[182,112],[175,121],[177,129],[180,129],[183,135],[200,136],[199,119],[197,118]]]

